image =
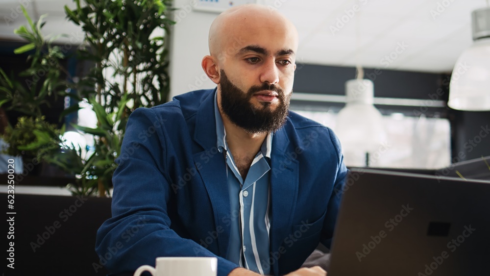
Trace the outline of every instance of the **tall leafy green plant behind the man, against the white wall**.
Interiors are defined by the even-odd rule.
[[[18,52],[39,52],[39,56],[31,58],[31,68],[41,66],[43,58],[54,59],[56,66],[49,67],[49,80],[42,84],[42,88],[45,89],[42,91],[46,92],[43,92],[43,95],[39,93],[38,96],[49,93],[69,96],[77,101],[86,100],[92,106],[97,115],[97,127],[72,124],[67,128],[73,127],[82,133],[92,134],[95,144],[93,154],[82,157],[80,149],[65,145],[58,151],[51,151],[44,158],[50,164],[55,164],[76,176],[77,180],[71,186],[73,193],[90,194],[98,191],[99,196],[105,196],[117,167],[114,160],[121,152],[130,113],[140,106],[153,106],[167,101],[170,79],[166,40],[173,22],[167,18],[166,11],[170,1],[74,2],[76,8],[71,10],[65,6],[65,11],[68,20],[80,25],[85,33],[84,42],[76,50],[76,55],[80,62],[94,65],[88,74],[79,75],[78,81],[73,81],[74,76],[60,66],[59,60],[64,58],[63,51],[56,47],[48,47],[48,50],[45,50],[53,40],[46,41],[43,38],[42,18],[34,24],[26,13],[30,30],[21,27],[16,32],[26,39],[28,44],[18,49]],[[158,34],[155,35],[156,33]],[[64,73],[66,78],[62,78],[60,72]],[[26,74],[35,74],[35,71],[30,70]],[[10,102],[9,106],[14,106],[14,99],[22,102],[22,97],[16,98],[15,93],[23,91],[11,85],[12,81],[8,81],[4,73],[2,76],[0,106],[6,102]],[[31,92],[36,93],[38,92]],[[77,104],[70,106],[61,115],[78,109]]]

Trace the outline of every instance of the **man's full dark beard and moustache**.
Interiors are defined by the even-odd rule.
[[[224,115],[234,124],[251,134],[275,132],[285,123],[289,114],[292,91],[288,95],[274,84],[264,83],[252,86],[245,93],[234,85],[221,70],[221,108]],[[261,101],[257,107],[250,100],[257,92],[270,90],[277,92],[279,103],[272,109],[271,102]]]

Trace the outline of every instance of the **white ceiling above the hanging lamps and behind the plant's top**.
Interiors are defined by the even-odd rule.
[[[72,0],[1,2],[2,39],[17,39],[13,30],[26,24],[24,16],[18,13],[22,2],[34,18],[49,14],[45,33],[65,33],[69,36],[65,40],[72,41],[83,38],[82,32],[65,20],[62,3],[73,7]],[[300,63],[360,64],[368,68],[419,72],[450,72],[458,56],[472,43],[471,11],[488,4],[488,0],[259,2],[278,8],[296,25]]]

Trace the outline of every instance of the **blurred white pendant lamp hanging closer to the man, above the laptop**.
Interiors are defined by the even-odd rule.
[[[373,105],[374,84],[369,79],[348,80],[345,96],[346,104],[338,114],[335,132],[343,151],[355,152],[368,166],[368,155],[379,150],[386,135],[382,115]]]

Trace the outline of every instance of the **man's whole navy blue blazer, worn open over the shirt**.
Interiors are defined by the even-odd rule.
[[[111,273],[154,266],[159,256],[216,256],[218,276],[238,267],[225,259],[236,214],[216,146],[215,91],[189,92],[129,117],[112,218],[97,233],[100,264]],[[274,134],[270,162],[269,262],[273,275],[284,275],[319,242],[330,246],[347,169],[332,130],[294,112]]]

